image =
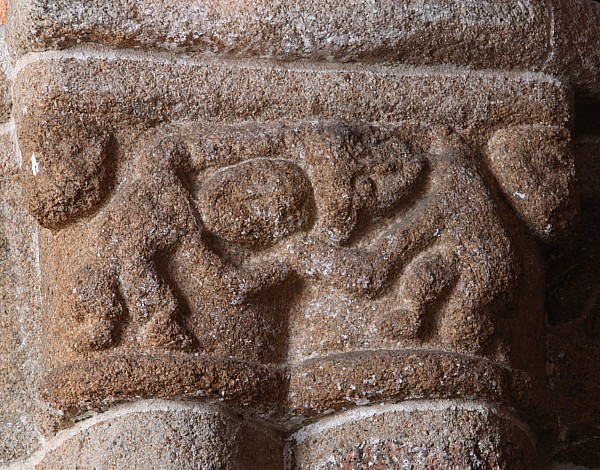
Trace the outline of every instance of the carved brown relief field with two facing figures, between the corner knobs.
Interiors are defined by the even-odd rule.
[[[365,349],[429,348],[505,365],[541,357],[539,342],[526,351],[511,334],[540,329],[535,253],[524,254],[526,238],[504,223],[477,154],[448,129],[180,123],[152,134],[126,155],[129,170],[93,218],[43,240],[45,278],[60,280],[46,284],[52,367],[140,348],[201,353],[213,367],[219,358],[285,364]],[[205,204],[215,178],[254,169],[281,184],[282,168],[302,184],[283,186],[289,194],[275,184],[265,197],[273,207],[297,199],[311,225],[292,216],[280,221],[288,233],[273,238],[277,224],[267,226],[248,246],[229,232],[247,210],[227,198],[227,231],[204,224],[221,207],[212,196]],[[252,196],[257,176],[238,181],[239,194]]]

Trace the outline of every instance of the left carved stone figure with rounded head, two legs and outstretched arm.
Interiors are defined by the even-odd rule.
[[[137,159],[138,177],[93,221],[96,239],[88,241],[62,299],[63,308],[81,323],[75,348],[113,345],[126,314],[140,327],[137,341],[146,348],[194,347],[182,324],[181,304],[158,272],[157,259],[169,252],[183,253],[193,266],[190,275],[201,273],[198,288],[229,308],[286,276],[280,262],[237,267],[207,248],[203,222],[179,177],[188,163],[181,144],[159,140]]]

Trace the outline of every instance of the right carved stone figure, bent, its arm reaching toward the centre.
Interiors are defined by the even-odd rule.
[[[418,337],[428,309],[444,300],[435,305],[441,343],[479,352],[494,332],[494,309],[510,299],[519,268],[473,152],[438,128],[422,154],[396,145],[387,158],[377,155],[369,171],[349,179],[355,197],[338,211],[354,217],[293,247],[297,269],[348,295],[387,302],[373,320],[390,337]],[[395,171],[389,172],[390,165]],[[361,211],[372,217],[390,210],[395,215],[375,236],[347,244],[360,230]]]

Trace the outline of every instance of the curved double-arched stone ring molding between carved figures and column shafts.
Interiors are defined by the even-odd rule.
[[[328,368],[333,363],[336,369]],[[380,366],[361,370],[371,363]],[[407,367],[412,374],[389,390],[376,390],[370,382],[376,371],[389,374]],[[340,387],[344,380],[353,388]],[[532,426],[546,428],[553,420],[546,395],[544,385],[522,371],[482,357],[432,350],[355,351],[293,365],[195,354],[107,356],[53,370],[41,389],[42,399],[64,412],[66,420],[114,403],[155,398],[222,402],[284,427],[367,404],[473,398],[514,407]],[[315,406],[306,408],[306,403]]]

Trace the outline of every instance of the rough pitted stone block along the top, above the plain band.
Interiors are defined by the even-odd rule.
[[[546,55],[546,2],[13,0],[15,56],[81,41],[283,60],[535,68]]]

